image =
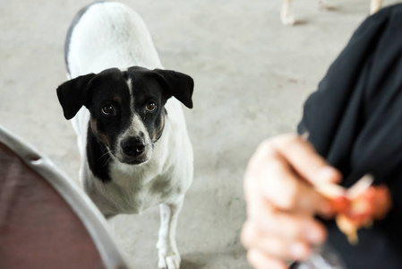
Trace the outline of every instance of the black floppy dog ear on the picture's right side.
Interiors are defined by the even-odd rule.
[[[192,91],[194,90],[194,81],[192,77],[175,72],[172,70],[154,69],[153,72],[158,74],[166,87],[167,98],[175,96],[187,108],[192,108]]]

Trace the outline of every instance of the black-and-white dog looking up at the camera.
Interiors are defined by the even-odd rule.
[[[175,227],[193,169],[179,101],[192,108],[192,78],[163,70],[141,17],[118,3],[76,15],[65,61],[71,80],[57,96],[78,135],[84,190],[106,217],[159,204],[158,267],[179,268]]]

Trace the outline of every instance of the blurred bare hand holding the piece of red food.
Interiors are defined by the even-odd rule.
[[[286,261],[307,258],[327,238],[314,215],[330,213],[329,202],[311,183],[340,178],[301,136],[283,134],[261,143],[244,174],[247,220],[241,239],[249,263],[282,269]]]

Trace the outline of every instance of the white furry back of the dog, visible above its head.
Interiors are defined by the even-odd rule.
[[[68,63],[72,78],[107,68],[162,68],[140,15],[124,4],[92,4],[73,29]]]

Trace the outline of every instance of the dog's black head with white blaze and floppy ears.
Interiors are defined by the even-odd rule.
[[[162,135],[167,100],[174,96],[192,108],[193,86],[186,74],[133,66],[64,82],[57,97],[66,119],[82,106],[90,110],[91,131],[118,161],[140,164],[150,160],[153,143]]]

